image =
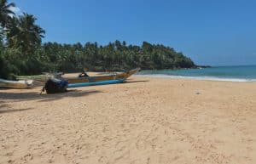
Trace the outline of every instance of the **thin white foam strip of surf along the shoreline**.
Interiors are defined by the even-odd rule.
[[[194,79],[207,81],[222,81],[222,82],[256,82],[256,79],[242,79],[242,78],[221,78],[215,76],[170,76],[165,74],[150,74],[150,75],[134,75],[134,76],[148,76],[159,78],[178,78],[178,79]]]

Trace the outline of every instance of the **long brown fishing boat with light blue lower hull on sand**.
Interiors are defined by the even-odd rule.
[[[79,77],[67,77],[65,79],[68,81],[68,88],[105,85],[124,82],[129,76],[135,74],[139,70],[140,69],[137,68],[130,71],[112,73],[102,76],[83,76],[83,74],[80,74]]]

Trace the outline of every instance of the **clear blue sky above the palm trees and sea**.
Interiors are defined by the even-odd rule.
[[[256,64],[254,0],[9,0],[38,18],[43,42],[143,41],[197,65]]]

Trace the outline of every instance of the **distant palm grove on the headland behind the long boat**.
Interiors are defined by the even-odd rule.
[[[173,48],[143,42],[135,46],[115,41],[106,46],[98,46],[96,42],[58,44],[46,42],[40,48],[47,63],[55,67],[55,71],[123,71],[135,67],[143,69],[179,69],[193,68],[193,61]]]

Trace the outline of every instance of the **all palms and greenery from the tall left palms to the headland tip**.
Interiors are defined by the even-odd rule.
[[[173,48],[143,42],[60,44],[42,43],[45,31],[32,14],[16,16],[14,3],[0,0],[0,77],[33,75],[42,71],[123,71],[142,69],[194,68],[193,61]]]

